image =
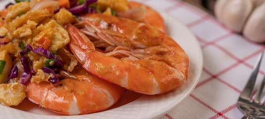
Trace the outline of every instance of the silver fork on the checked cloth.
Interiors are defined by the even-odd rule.
[[[242,119],[265,118],[265,103],[261,103],[261,96],[264,89],[265,77],[263,78],[262,84],[258,90],[255,99],[251,100],[263,55],[264,51],[259,56],[254,66],[254,70],[251,73],[251,76],[237,101],[238,109],[240,109],[241,112],[245,113]]]

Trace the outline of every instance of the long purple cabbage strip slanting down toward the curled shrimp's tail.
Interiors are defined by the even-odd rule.
[[[46,58],[48,59],[56,59],[56,64],[57,66],[60,66],[60,67],[63,67],[64,66],[64,63],[62,60],[56,58],[53,53],[51,53],[50,51],[46,50],[45,48],[42,48],[42,47],[38,47],[36,49],[32,49],[32,47],[30,45],[27,45],[26,46],[26,49],[25,50],[22,50],[20,52],[20,55],[23,56],[27,53],[27,49],[31,50],[33,53],[37,53],[41,56],[45,56]]]

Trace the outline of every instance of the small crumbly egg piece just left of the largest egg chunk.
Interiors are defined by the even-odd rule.
[[[30,36],[32,34],[31,30],[36,29],[37,25],[38,25],[38,23],[28,20],[27,24],[24,24],[22,27],[17,28],[14,31],[14,35],[17,37]]]

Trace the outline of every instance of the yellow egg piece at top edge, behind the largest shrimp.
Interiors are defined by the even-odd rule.
[[[115,11],[125,11],[129,9],[127,0],[98,0],[97,9],[104,11],[107,7]]]

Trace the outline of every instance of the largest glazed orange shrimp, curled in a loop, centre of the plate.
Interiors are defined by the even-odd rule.
[[[149,24],[103,14],[87,14],[81,21],[76,24],[78,28],[112,49],[106,54],[97,52],[86,35],[65,24],[72,53],[93,75],[148,95],[174,90],[187,81],[189,58],[164,32]]]

